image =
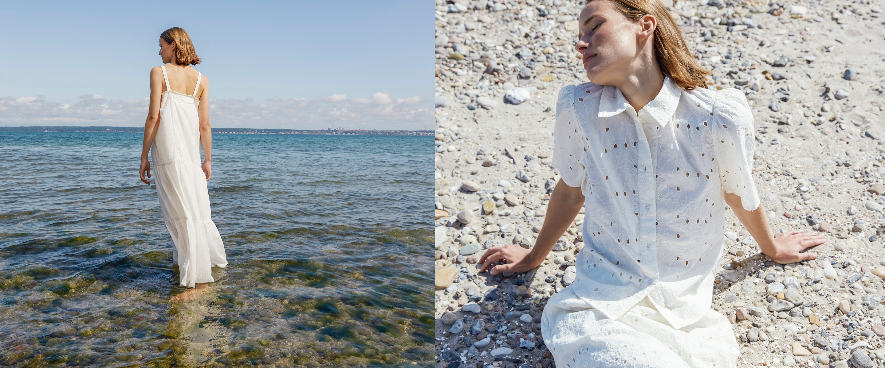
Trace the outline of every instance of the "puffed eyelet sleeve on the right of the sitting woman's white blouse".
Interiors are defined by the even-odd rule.
[[[743,209],[753,211],[760,201],[753,182],[756,136],[750,105],[743,92],[726,88],[716,94],[712,110],[717,137],[713,149],[719,161],[722,188],[740,196]]]

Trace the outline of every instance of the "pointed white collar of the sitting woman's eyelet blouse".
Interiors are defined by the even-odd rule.
[[[664,86],[661,86],[658,96],[645,105],[643,109],[653,117],[658,124],[666,126],[679,106],[682,89],[673,83],[669,76],[664,77]],[[630,107],[630,103],[620,93],[616,86],[603,86],[602,95],[599,99],[598,117],[616,116]]]

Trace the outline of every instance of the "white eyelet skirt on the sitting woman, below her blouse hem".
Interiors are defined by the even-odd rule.
[[[733,368],[740,353],[731,323],[712,309],[677,330],[649,297],[611,320],[571,289],[547,302],[541,333],[557,368]]]

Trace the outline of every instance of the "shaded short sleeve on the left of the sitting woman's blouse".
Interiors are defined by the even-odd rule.
[[[581,160],[583,131],[574,114],[574,87],[559,90],[556,103],[556,126],[553,129],[553,166],[569,186],[581,186],[584,165]]]

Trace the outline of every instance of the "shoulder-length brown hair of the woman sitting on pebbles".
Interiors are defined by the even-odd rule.
[[[590,4],[591,1],[599,0],[587,0],[585,4]],[[661,71],[664,75],[670,76],[676,86],[689,91],[698,86],[707,87],[706,76],[712,72],[697,64],[689,47],[682,40],[679,27],[673,18],[670,18],[670,11],[666,10],[660,0],[608,1],[611,1],[615,8],[631,21],[643,18],[645,14],[650,14],[658,20],[654,33],[655,58],[658,59]]]

